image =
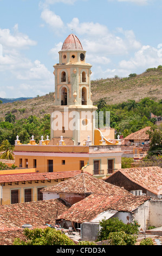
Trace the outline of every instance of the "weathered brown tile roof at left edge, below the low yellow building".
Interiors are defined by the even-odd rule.
[[[31,224],[33,228],[41,227],[69,208],[61,199],[43,200],[21,204],[1,205],[0,231],[17,230],[23,224]]]

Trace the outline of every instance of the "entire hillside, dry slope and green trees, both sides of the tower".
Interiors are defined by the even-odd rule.
[[[126,137],[155,123],[150,113],[162,115],[162,66],[141,75],[92,81],[92,100],[98,111],[110,111],[111,127]],[[107,96],[108,95],[108,96]],[[95,100],[94,100],[95,99]],[[5,139],[13,145],[18,135],[21,143],[29,143],[32,135],[38,142],[50,136],[50,109],[54,93],[25,101],[0,104],[0,144]]]

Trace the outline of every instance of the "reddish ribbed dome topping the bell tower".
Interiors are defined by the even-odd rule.
[[[83,50],[83,48],[77,36],[74,34],[70,34],[64,40],[62,50]]]

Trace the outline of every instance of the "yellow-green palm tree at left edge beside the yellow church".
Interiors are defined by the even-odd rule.
[[[1,159],[8,159],[8,160],[14,160],[14,155],[12,154],[12,151],[14,151],[14,146],[9,143],[9,141],[6,139],[2,142],[0,146],[0,152],[3,152],[1,155]]]

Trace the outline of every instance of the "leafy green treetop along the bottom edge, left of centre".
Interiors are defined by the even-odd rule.
[[[24,229],[26,241],[16,238],[13,245],[75,245],[65,234],[54,228]]]

